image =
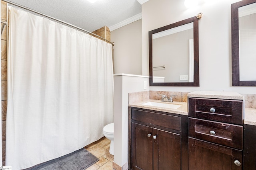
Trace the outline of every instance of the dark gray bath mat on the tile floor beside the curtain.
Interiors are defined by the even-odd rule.
[[[82,148],[26,170],[84,170],[98,160],[96,156]]]

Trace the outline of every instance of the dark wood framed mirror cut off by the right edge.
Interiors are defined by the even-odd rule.
[[[256,86],[256,0],[231,4],[232,86]]]

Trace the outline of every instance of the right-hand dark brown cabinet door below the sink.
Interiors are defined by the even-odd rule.
[[[154,170],[181,170],[181,137],[179,134],[153,129]]]

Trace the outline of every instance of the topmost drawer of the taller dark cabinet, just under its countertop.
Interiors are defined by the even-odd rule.
[[[188,116],[242,125],[243,101],[188,98]]]

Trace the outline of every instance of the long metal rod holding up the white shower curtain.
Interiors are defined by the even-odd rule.
[[[96,37],[99,37],[100,39],[103,39],[103,40],[105,40],[105,41],[108,41],[107,39],[102,38],[102,37],[100,37],[99,35],[96,35],[96,34],[94,34],[94,33],[90,32],[90,31],[86,31],[85,29],[82,29],[82,28],[77,27],[77,26],[75,26],[75,25],[72,25],[72,24],[70,24],[70,23],[64,22],[64,21],[62,21],[62,20],[58,20],[58,19],[53,18],[53,17],[51,17],[51,16],[45,15],[45,14],[43,14],[43,13],[41,13],[41,12],[38,12],[38,11],[32,10],[32,9],[30,9],[30,8],[27,8],[27,7],[25,7],[25,6],[21,6],[21,5],[19,5],[19,4],[13,3],[13,2],[8,1],[8,0],[2,0],[2,1],[7,2],[7,3],[11,4],[11,5],[18,6],[18,7],[20,7],[20,8],[25,9],[25,10],[28,10],[28,11],[34,12],[34,13],[36,13],[36,14],[39,14],[39,15],[43,16],[43,17],[50,18],[50,19],[52,19],[52,20],[54,20],[54,21],[58,21],[58,22],[64,23],[64,24],[69,25],[69,26],[71,26],[71,27],[74,27],[74,28],[76,28],[76,29],[80,29],[80,30],[82,30],[82,31],[84,31],[84,32],[86,32],[86,33],[88,33],[88,34],[95,35]],[[109,42],[110,44],[112,44],[113,46],[115,45],[115,43],[114,43],[114,42],[111,42],[111,41],[108,41],[108,42]]]

